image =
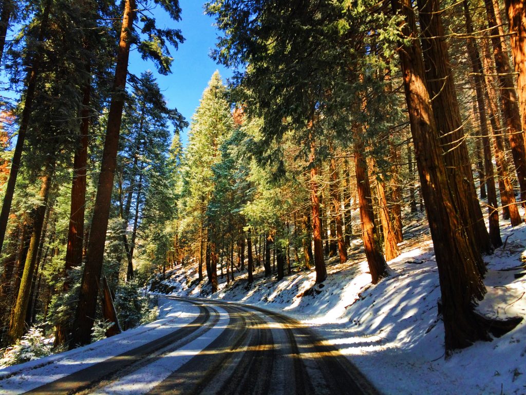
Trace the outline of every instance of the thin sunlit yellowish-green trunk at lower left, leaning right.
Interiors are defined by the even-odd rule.
[[[46,215],[47,197],[49,195],[49,188],[55,166],[54,164],[48,164],[47,167],[48,169],[45,170],[45,175],[42,177],[42,186],[39,194],[42,199],[42,204],[38,206],[35,212],[33,234],[31,235],[31,241],[29,242],[29,249],[27,250],[26,261],[24,264],[24,272],[20,281],[20,288],[13,314],[11,315],[11,322],[9,323],[8,338],[11,342],[15,342],[21,338],[25,330],[24,320],[29,304],[29,294],[31,293],[31,284],[33,283],[33,273],[35,271],[38,245],[40,243],[44,218]]]

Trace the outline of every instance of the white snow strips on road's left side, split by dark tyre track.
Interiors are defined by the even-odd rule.
[[[159,304],[160,319],[155,322],[75,350],[0,369],[0,394],[15,395],[33,390],[95,363],[163,338],[188,325],[199,315],[199,309],[189,303],[159,298]],[[213,328],[204,330],[202,335],[196,335],[195,340],[183,347],[173,352],[165,352],[163,358],[156,359],[153,363],[148,363],[143,368],[120,377],[118,381],[98,388],[94,393],[142,394],[155,387],[171,372],[197,355],[226,328],[229,322],[227,312],[221,308],[216,309],[220,318]],[[171,344],[167,348],[170,347],[174,345]],[[163,352],[163,349],[159,352]]]

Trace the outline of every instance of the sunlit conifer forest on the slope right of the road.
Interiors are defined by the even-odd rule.
[[[347,261],[359,235],[376,284],[420,205],[446,349],[514,328],[522,318],[476,306],[483,256],[502,245],[499,216],[523,221],[522,5],[217,0],[206,10],[222,32],[213,56],[234,77],[228,90],[212,77],[190,125],[179,261],[192,256],[212,291],[217,265],[234,280],[246,255],[249,283],[258,264],[278,279],[314,266],[321,283],[326,256]]]

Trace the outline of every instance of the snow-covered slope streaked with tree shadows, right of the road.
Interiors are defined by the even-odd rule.
[[[486,298],[479,310],[498,317],[526,315],[526,225],[501,222],[504,246],[485,256]],[[422,218],[404,227],[402,254],[389,262],[392,274],[377,285],[360,240],[352,242],[349,261],[327,260],[328,279],[315,284],[315,272],[299,271],[281,281],[256,268],[254,283],[246,273],[236,281],[220,279],[211,294],[197,268],[180,266],[167,273],[166,293],[259,305],[283,312],[318,330],[386,394],[524,394],[526,393],[526,322],[492,342],[444,358],[444,330],[437,316],[440,288],[433,244]]]

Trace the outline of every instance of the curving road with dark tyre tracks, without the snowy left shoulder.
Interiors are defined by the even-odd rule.
[[[198,317],[164,337],[79,370],[27,393],[128,393],[119,383],[134,372],[192,345],[228,314],[224,329],[174,371],[151,374],[149,386],[129,393],[157,394],[377,394],[369,381],[319,335],[285,315],[257,307],[178,298],[197,305]],[[224,313],[223,313],[224,314]],[[153,371],[152,369],[149,370]],[[119,384],[119,385],[117,385]],[[133,382],[131,382],[133,384]],[[116,388],[119,388],[116,390]],[[130,387],[131,388],[131,387]],[[141,390],[140,388],[145,388]]]

